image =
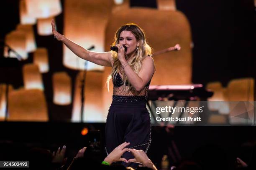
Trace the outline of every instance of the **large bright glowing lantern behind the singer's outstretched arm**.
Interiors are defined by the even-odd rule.
[[[113,3],[113,0],[65,0],[63,34],[82,47],[97,44],[95,51],[104,52],[105,27]],[[84,70],[85,60],[77,57],[65,45],[63,48],[63,65],[74,70]],[[87,70],[103,70],[103,67],[88,62]]]

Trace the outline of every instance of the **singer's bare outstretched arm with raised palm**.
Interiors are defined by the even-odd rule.
[[[52,33],[54,37],[62,41],[74,54],[78,57],[93,62],[97,65],[108,66],[111,67],[113,64],[113,58],[111,56],[111,52],[92,52],[90,50],[86,50],[85,48],[81,47],[80,45],[72,42],[71,40],[67,39],[64,35],[61,35],[59,32],[56,31],[54,20],[51,20],[52,26]]]

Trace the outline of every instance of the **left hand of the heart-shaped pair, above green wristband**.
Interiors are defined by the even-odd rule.
[[[123,153],[128,151],[128,148],[125,148],[126,146],[130,145],[130,143],[124,142],[118,147],[116,147],[105,159],[104,161],[112,164],[113,162],[118,162],[118,161],[124,161],[127,162],[125,158],[121,158]]]

